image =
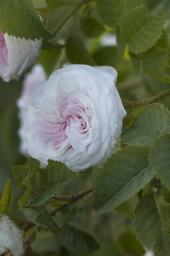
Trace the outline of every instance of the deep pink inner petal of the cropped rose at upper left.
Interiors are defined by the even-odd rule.
[[[4,34],[0,31],[0,67],[6,68],[8,66],[8,49],[6,47]]]

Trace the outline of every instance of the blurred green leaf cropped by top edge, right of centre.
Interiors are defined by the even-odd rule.
[[[98,13],[109,27],[120,24],[126,14],[126,0],[96,0]]]

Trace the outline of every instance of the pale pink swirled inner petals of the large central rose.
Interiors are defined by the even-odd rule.
[[[63,142],[69,138],[70,146],[75,145],[76,141],[82,143],[82,148],[85,147],[91,140],[89,137],[89,130],[91,129],[91,119],[86,114],[89,110],[77,100],[75,95],[61,96],[56,101],[56,108],[58,109],[59,116],[56,120],[49,121],[46,116],[41,120],[38,133],[44,138],[44,142],[52,145],[54,148],[59,149],[63,146]],[[89,112],[89,111],[87,111]],[[69,135],[70,134],[70,135]],[[74,142],[72,139],[74,138]],[[84,140],[84,142],[82,141]],[[68,144],[67,144],[68,145]],[[77,147],[77,150],[82,150]]]

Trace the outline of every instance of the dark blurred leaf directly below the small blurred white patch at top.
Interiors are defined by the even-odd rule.
[[[114,46],[100,48],[93,54],[93,59],[98,66],[114,67],[119,61],[117,49]]]

